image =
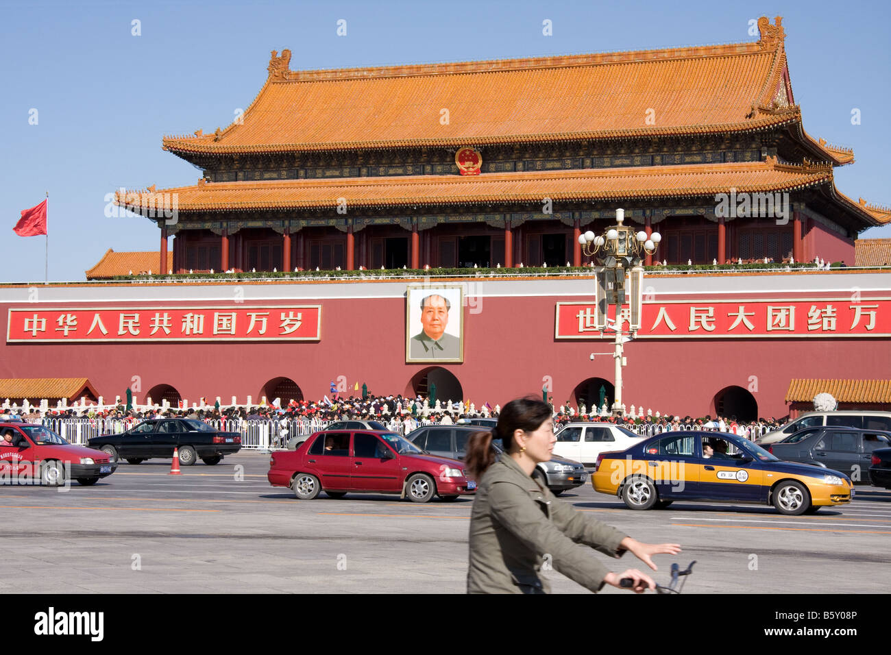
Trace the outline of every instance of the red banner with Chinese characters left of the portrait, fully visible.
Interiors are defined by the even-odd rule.
[[[322,306],[10,309],[8,342],[317,341]]]

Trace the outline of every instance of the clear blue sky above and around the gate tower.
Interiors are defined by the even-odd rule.
[[[749,21],[783,16],[805,129],[854,148],[840,191],[891,204],[887,2],[0,2],[0,282],[44,277],[44,237],[12,233],[50,192],[49,279],[83,280],[105,250],[156,250],[159,230],[107,218],[120,186],[194,184],[200,171],[161,137],[232,122],[266,80],[269,51],[290,68],[637,50],[756,40]],[[347,36],[337,36],[337,21]],[[133,20],[140,36],[133,36]],[[552,36],[543,35],[552,21]],[[861,111],[852,125],[851,111]],[[30,125],[31,110],[37,125]],[[891,225],[861,237],[891,237]]]

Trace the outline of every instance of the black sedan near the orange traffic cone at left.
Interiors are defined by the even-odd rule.
[[[88,444],[107,453],[111,462],[125,459],[139,464],[153,457],[169,459],[178,448],[182,466],[191,466],[198,458],[213,466],[225,455],[241,450],[241,434],[214,430],[197,419],[151,419],[121,434],[94,437]]]

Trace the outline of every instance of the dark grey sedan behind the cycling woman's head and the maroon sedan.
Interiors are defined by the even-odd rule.
[[[479,427],[466,425],[425,425],[413,430],[405,438],[429,454],[463,460],[467,454],[467,439],[480,430]],[[495,439],[492,447],[498,454],[503,453],[500,439]],[[562,457],[552,457],[549,462],[539,463],[537,468],[544,479],[544,484],[554,495],[580,487],[588,479],[588,474],[581,463]]]

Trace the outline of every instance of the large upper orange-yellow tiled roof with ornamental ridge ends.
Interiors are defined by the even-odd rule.
[[[780,22],[762,18],[756,43],[359,69],[294,71],[289,50],[273,51],[266,84],[237,121],[212,134],[166,136],[163,147],[479,146],[800,124],[786,96]],[[826,160],[853,160],[811,141]]]

